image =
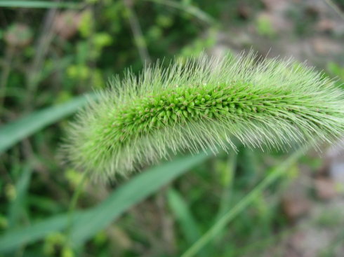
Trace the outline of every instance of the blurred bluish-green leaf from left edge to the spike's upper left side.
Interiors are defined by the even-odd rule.
[[[18,141],[25,139],[25,137],[34,134],[34,132],[74,113],[87,103],[87,97],[94,97],[94,95],[76,97],[64,104],[58,104],[40,111],[34,111],[26,117],[4,125],[0,128],[0,153],[6,151],[8,148],[18,143]]]

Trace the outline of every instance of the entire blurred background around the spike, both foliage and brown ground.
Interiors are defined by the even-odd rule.
[[[343,256],[343,142],[293,158],[187,155],[79,189],[81,173],[57,158],[81,95],[158,59],[253,47],[308,60],[342,86],[343,10],[341,0],[0,1],[0,256]],[[82,211],[70,215],[76,190]]]

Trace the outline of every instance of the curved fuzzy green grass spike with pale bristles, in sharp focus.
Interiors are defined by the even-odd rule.
[[[333,141],[343,92],[292,60],[206,56],[114,78],[67,130],[67,159],[98,179],[127,176],[180,151]]]

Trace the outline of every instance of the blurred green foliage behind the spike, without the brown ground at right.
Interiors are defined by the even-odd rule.
[[[199,55],[226,22],[276,39],[269,20],[244,15],[243,4],[264,8],[250,0],[0,1],[0,256],[265,256],[292,232],[281,195],[300,166],[322,165],[303,152],[187,155],[107,186],[81,183],[57,157],[81,95],[93,97],[126,67],[138,73],[148,60]],[[322,63],[343,80],[341,65]]]

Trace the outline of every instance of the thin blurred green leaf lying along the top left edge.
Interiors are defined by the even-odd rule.
[[[81,8],[80,3],[58,1],[0,1],[0,7],[16,8]]]

